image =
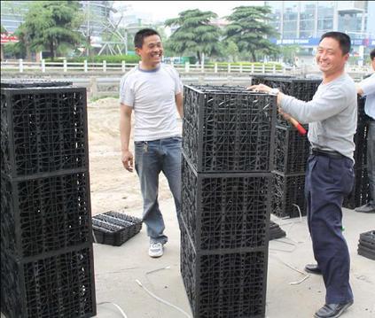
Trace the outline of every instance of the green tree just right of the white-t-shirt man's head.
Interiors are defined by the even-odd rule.
[[[168,48],[177,54],[196,54],[199,64],[202,53],[215,55],[219,53],[219,27],[210,21],[217,17],[215,12],[201,12],[199,9],[178,13],[179,17],[165,21],[167,27],[175,26],[176,31],[168,40]]]

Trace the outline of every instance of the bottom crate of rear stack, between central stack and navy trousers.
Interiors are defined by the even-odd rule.
[[[271,213],[278,217],[306,215],[305,175],[283,175],[274,173]],[[294,206],[296,205],[296,206]]]

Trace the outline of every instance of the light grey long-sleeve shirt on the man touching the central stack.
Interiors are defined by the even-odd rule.
[[[312,147],[338,151],[354,160],[357,122],[355,82],[342,74],[326,84],[320,84],[313,99],[304,102],[290,96],[281,100],[281,108],[302,124],[309,123]]]

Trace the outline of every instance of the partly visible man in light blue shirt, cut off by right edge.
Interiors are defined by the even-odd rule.
[[[370,53],[371,66],[375,71],[375,49]],[[364,206],[357,207],[356,212],[375,213],[375,73],[356,86],[356,91],[366,97],[364,112],[370,117],[367,135],[367,175],[369,176],[370,198]]]

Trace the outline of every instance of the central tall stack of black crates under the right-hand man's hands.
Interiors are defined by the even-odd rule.
[[[195,318],[265,314],[276,97],[185,86],[181,272]]]

